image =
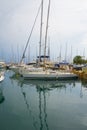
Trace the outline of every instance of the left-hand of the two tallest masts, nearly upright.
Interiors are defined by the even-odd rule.
[[[41,23],[40,23],[40,42],[39,42],[39,64],[40,64],[40,61],[41,61],[42,25],[43,25],[43,0],[42,0],[42,2],[41,2]]]

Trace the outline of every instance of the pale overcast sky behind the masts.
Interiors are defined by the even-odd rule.
[[[41,0],[0,0],[0,58],[22,55],[33,26]],[[44,0],[43,38],[46,26],[48,0]],[[64,58],[85,55],[87,57],[87,0],[51,0],[48,39],[51,57],[60,52]],[[38,53],[40,14],[30,40],[30,56]]]

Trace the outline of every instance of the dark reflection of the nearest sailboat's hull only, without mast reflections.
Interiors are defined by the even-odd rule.
[[[67,84],[73,84],[73,87],[75,87],[75,83],[78,80],[64,80],[64,81],[42,81],[42,80],[24,80],[22,77],[19,77],[18,75],[13,74],[10,77],[11,80],[16,80],[18,82],[18,85],[20,84],[21,87],[23,87],[24,84],[26,85],[35,85],[37,88],[37,91],[40,89],[42,91],[45,90],[53,90],[55,88],[66,88]]]

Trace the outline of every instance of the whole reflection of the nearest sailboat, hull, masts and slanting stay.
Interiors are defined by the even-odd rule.
[[[54,91],[55,89],[61,90],[65,89],[70,86],[70,92],[72,88],[76,86],[75,80],[69,81],[37,81],[37,80],[23,80],[23,78],[19,77],[18,75],[12,75],[10,77],[11,80],[15,80],[18,83],[18,86],[21,88],[21,93],[24,97],[25,104],[27,109],[33,119],[33,126],[36,130],[39,127],[39,130],[49,130],[49,123],[48,123],[48,112],[47,112],[47,94],[50,91]],[[31,104],[29,103],[29,98],[27,98],[27,93],[25,91],[25,85],[33,86],[36,88],[38,93],[38,109],[39,109],[39,125],[38,120],[35,119],[35,115],[31,108]]]

